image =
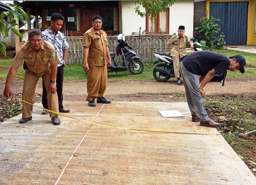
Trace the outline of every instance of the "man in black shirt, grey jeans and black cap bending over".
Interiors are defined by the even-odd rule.
[[[241,55],[227,57],[213,51],[196,51],[180,58],[180,73],[183,79],[192,122],[216,128],[221,124],[209,119],[203,104],[204,86],[214,77],[227,70],[244,73],[245,58]],[[202,83],[201,83],[202,82]],[[199,86],[199,84],[201,85]]]

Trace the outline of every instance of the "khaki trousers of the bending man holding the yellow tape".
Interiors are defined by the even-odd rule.
[[[35,91],[36,91],[36,84],[40,77],[36,76],[33,73],[25,71],[24,81],[23,81],[23,91],[22,91],[22,100],[27,101],[31,104],[34,104],[35,99]],[[48,98],[48,106],[49,110],[55,111],[59,113],[59,104],[58,104],[58,96],[55,92],[52,94],[49,91],[49,83],[51,80],[51,70],[46,71],[42,76],[44,80],[44,85],[47,90],[47,98]],[[22,105],[22,118],[28,118],[32,115],[33,105],[23,102]],[[54,116],[59,116],[58,114],[54,114],[50,112],[50,118]]]

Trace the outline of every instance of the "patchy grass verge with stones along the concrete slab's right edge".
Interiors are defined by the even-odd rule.
[[[213,101],[214,100],[214,101]],[[204,106],[211,119],[217,121],[213,110],[218,110],[220,116],[225,116],[230,123],[221,127],[221,135],[237,152],[242,153],[254,146],[255,138],[249,135],[246,140],[241,141],[238,136],[245,130],[256,129],[256,97],[250,95],[210,95],[204,97]]]

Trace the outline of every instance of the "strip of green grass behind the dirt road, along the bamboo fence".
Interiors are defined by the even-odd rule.
[[[241,74],[239,71],[229,71],[227,73],[227,78],[244,78],[244,77],[255,77],[256,75],[256,55],[253,53],[247,53],[243,51],[234,51],[228,49],[216,49],[213,50],[219,52],[226,56],[242,55],[246,59],[245,73]],[[12,59],[0,60],[0,68],[10,67],[12,64]],[[148,69],[152,63],[144,63],[144,71],[140,75],[132,75],[128,70],[124,72],[118,72],[117,75],[115,72],[108,73],[109,80],[151,80],[153,78],[153,68]],[[87,76],[82,68],[83,63],[78,64],[67,64],[64,68],[64,80],[87,80]],[[0,72],[0,81],[5,82],[8,72]],[[24,70],[19,69],[14,81],[23,81],[24,79]]]

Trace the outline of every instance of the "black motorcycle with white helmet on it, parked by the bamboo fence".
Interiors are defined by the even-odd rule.
[[[135,51],[132,50],[127,42],[125,42],[125,36],[119,34],[117,36],[117,46],[116,53],[117,55],[122,56],[122,66],[117,66],[115,62],[116,54],[114,52],[109,52],[111,57],[111,65],[108,67],[108,72],[120,72],[129,70],[133,75],[139,75],[144,70],[144,64],[142,59],[138,57]]]

